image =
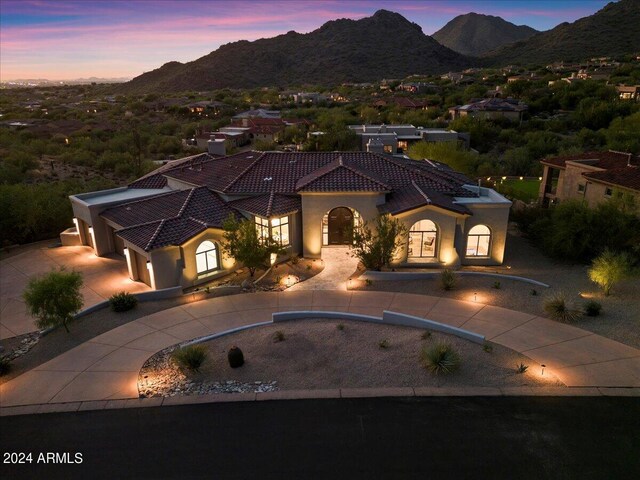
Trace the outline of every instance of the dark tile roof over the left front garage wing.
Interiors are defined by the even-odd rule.
[[[175,192],[175,195],[162,197],[166,198],[160,199],[161,202],[158,201],[158,197],[153,197],[123,204],[107,210],[103,216],[113,221],[118,219],[132,222],[132,212],[139,212],[135,220],[137,224],[118,230],[116,234],[146,252],[167,245],[180,245],[207,228],[222,228],[229,215],[241,217],[217,193],[207,187],[181,190]],[[170,198],[174,199],[175,205],[167,204]],[[145,203],[148,205],[144,205]],[[155,212],[154,206],[162,206],[164,210]],[[127,210],[127,207],[130,210]],[[164,218],[159,219],[161,216]]]

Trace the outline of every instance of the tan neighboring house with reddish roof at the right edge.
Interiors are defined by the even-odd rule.
[[[541,160],[542,205],[568,199],[591,207],[615,197],[635,197],[640,205],[640,157],[624,152],[585,152]]]

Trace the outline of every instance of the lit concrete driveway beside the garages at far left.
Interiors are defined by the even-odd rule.
[[[29,278],[65,266],[82,273],[84,306],[89,307],[126,290],[150,290],[142,282],[129,279],[124,258],[96,257],[90,247],[38,248],[0,262],[0,339],[37,330],[22,300]]]

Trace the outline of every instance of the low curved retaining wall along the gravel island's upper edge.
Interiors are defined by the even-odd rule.
[[[290,320],[304,320],[310,318],[328,318],[335,320],[355,320],[359,322],[378,323],[384,325],[395,325],[402,327],[414,327],[434,330],[436,332],[448,333],[456,337],[464,338],[474,343],[484,343],[484,335],[464,330],[462,328],[452,327],[445,323],[434,322],[412,315],[403,313],[390,312],[385,310],[381,317],[371,315],[360,315],[357,313],[344,312],[323,312],[322,310],[300,310],[294,312],[276,312],[272,314],[273,323],[287,322]]]

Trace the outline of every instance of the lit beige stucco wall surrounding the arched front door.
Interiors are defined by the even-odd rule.
[[[363,221],[378,215],[377,206],[384,203],[380,193],[303,193],[302,250],[306,258],[320,258],[322,250],[322,217],[336,207],[349,207],[360,213]]]

